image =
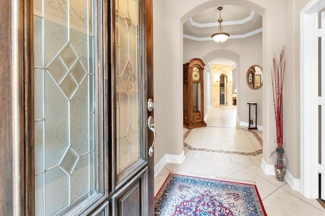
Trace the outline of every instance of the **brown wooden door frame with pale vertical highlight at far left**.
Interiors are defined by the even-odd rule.
[[[27,35],[32,28],[32,8],[28,1],[0,1],[0,14],[0,214],[29,215],[34,212],[28,205],[34,193],[26,193],[27,188],[34,189],[27,175],[34,173],[28,168],[34,167],[29,149],[33,138],[28,134],[33,125],[28,123],[32,113],[25,110],[34,102],[28,85],[31,77],[26,72],[32,67],[33,45]]]

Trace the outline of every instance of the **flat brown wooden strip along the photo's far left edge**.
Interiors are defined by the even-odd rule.
[[[12,14],[11,1],[0,1],[0,34],[1,59],[6,59],[6,64],[0,64],[0,214],[13,215],[13,183],[12,183]]]

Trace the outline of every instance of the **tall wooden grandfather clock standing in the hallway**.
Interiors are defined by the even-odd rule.
[[[183,64],[183,126],[207,126],[204,122],[203,71],[205,64],[199,58]]]

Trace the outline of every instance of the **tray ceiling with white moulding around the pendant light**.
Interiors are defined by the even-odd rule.
[[[212,40],[211,35],[218,30],[219,6],[196,13],[183,24],[185,38],[205,41]],[[262,16],[254,11],[233,5],[221,5],[223,32],[230,39],[245,38],[262,32]]]

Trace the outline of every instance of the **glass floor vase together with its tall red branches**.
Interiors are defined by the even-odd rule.
[[[272,152],[271,156],[274,159],[275,175],[277,180],[283,182],[286,171],[287,158],[284,155],[283,149],[283,80],[285,73],[285,46],[280,50],[279,59],[276,55],[273,56],[272,67],[272,90],[273,90],[273,103],[275,112],[276,124],[276,151]]]

